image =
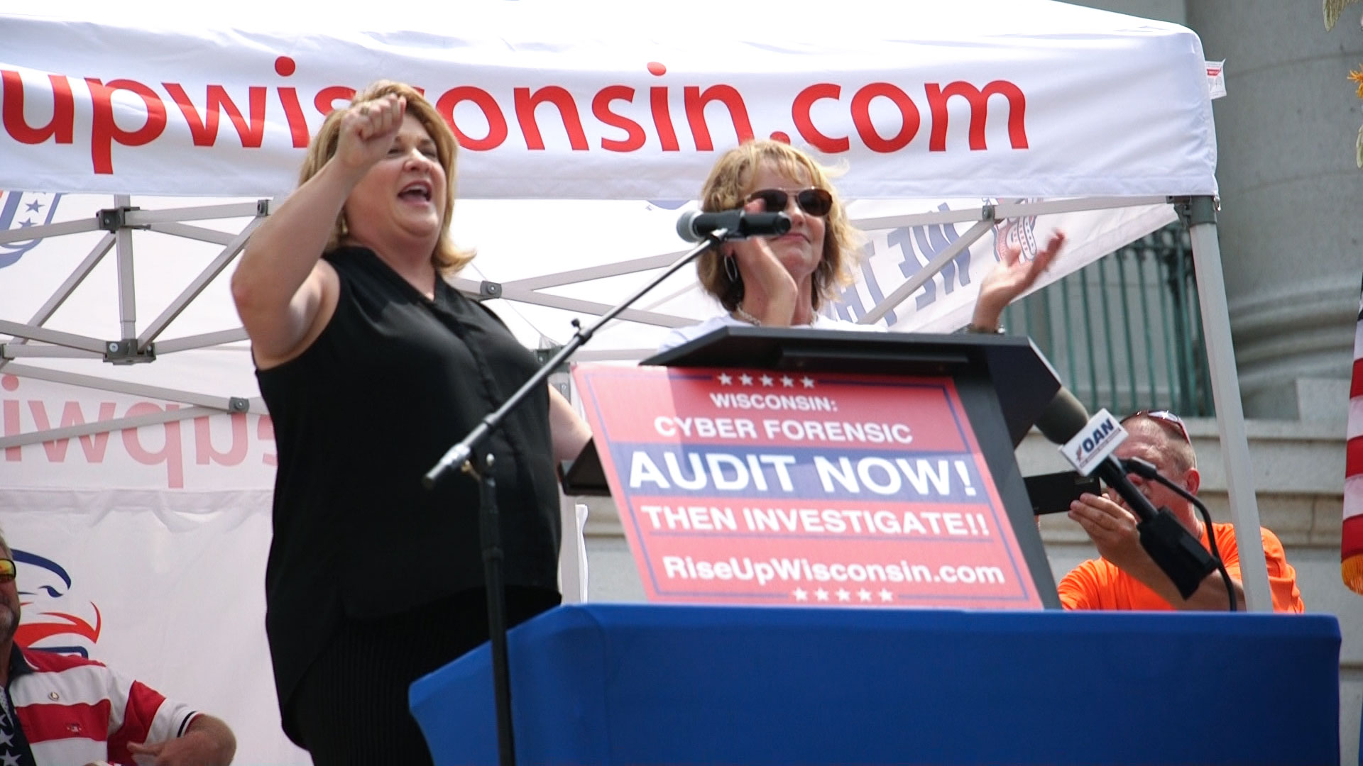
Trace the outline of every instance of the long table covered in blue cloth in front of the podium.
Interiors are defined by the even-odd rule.
[[[522,763],[1338,762],[1328,615],[560,607],[511,631]],[[489,652],[412,687],[496,763]]]

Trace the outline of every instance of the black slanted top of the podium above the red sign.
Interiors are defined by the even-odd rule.
[[[729,326],[639,364],[988,376],[998,393],[1003,423],[1014,447],[1060,390],[1055,371],[1025,335]]]

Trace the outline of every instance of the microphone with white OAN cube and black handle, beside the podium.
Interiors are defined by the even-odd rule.
[[[1179,596],[1193,596],[1206,575],[1217,568],[1217,560],[1168,508],[1156,508],[1127,478],[1126,468],[1112,457],[1112,450],[1126,439],[1126,431],[1116,418],[1107,410],[1099,410],[1090,418],[1074,394],[1060,388],[1041,412],[1036,427],[1048,440],[1060,444],[1060,453],[1079,473],[1096,473],[1126,500],[1141,519],[1135,525],[1141,547],[1174,582]]]

